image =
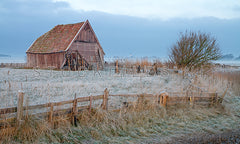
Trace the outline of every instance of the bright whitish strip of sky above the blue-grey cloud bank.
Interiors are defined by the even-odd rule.
[[[101,11],[143,18],[240,17],[240,0],[53,0],[76,11]]]

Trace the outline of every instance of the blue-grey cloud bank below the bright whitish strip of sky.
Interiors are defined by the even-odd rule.
[[[179,32],[186,29],[210,32],[216,35],[224,53],[240,55],[240,19],[147,20],[97,11],[76,12],[67,3],[49,0],[1,0],[0,6],[8,10],[0,12],[3,54],[25,55],[31,43],[55,25],[89,19],[107,56],[166,56]]]

